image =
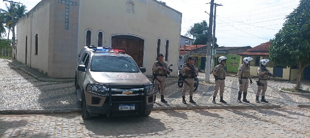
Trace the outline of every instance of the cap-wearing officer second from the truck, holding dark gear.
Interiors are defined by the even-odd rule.
[[[185,93],[186,89],[189,86],[189,102],[190,103],[196,103],[193,100],[193,92],[194,92],[194,78],[196,75],[197,70],[195,70],[194,64],[194,57],[188,57],[187,63],[184,64],[183,69],[181,70],[182,73],[185,74],[186,79],[184,80],[183,83],[183,90],[182,90],[182,103],[186,104],[185,100]]]

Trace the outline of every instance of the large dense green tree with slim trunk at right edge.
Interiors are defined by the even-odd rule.
[[[270,59],[278,65],[298,66],[296,90],[300,89],[303,70],[310,65],[310,0],[300,0],[286,16],[283,27],[271,40]]]

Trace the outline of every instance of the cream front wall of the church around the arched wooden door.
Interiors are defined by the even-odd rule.
[[[92,30],[92,44],[97,44],[97,32],[104,32],[104,46],[111,46],[111,36],[132,35],[144,39],[143,67],[146,75],[152,75],[156,57],[157,38],[161,39],[161,51],[170,41],[169,61],[177,70],[182,14],[155,0],[131,0],[134,13],[126,11],[128,0],[80,0],[78,50],[85,46],[85,31]],[[171,72],[177,76],[177,71]]]

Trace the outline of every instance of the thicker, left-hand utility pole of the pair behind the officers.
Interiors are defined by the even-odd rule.
[[[206,3],[208,4],[208,3]],[[209,28],[208,28],[208,41],[207,41],[207,55],[205,61],[205,82],[210,82],[210,67],[211,67],[211,40],[212,40],[212,22],[213,22],[213,7],[214,0],[210,2],[210,17],[209,17]]]

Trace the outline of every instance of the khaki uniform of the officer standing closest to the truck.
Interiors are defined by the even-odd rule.
[[[163,96],[165,94],[165,85],[166,85],[166,73],[167,70],[165,69],[159,69],[159,61],[155,61],[153,64],[152,70],[155,72],[156,77],[155,77],[155,83],[158,83],[160,86],[160,95]],[[168,69],[168,64],[163,61],[161,62],[162,65],[165,66],[166,69]],[[155,87],[155,90],[157,90],[157,87]]]

